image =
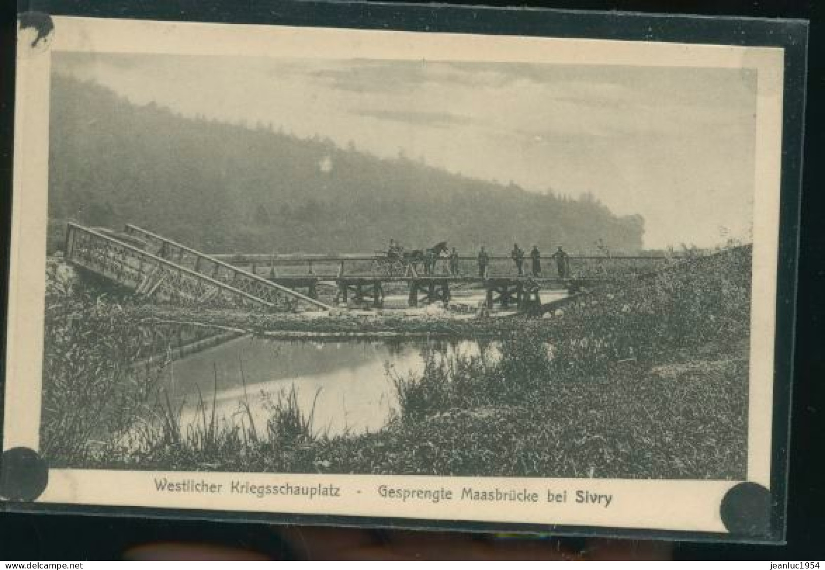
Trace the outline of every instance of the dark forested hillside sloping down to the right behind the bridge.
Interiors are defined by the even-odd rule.
[[[374,252],[446,240],[632,253],[643,219],[592,195],[537,193],[421,160],[376,158],[277,125],[229,124],[139,106],[94,82],[52,77],[50,251],[66,221],[138,224],[206,252]]]

